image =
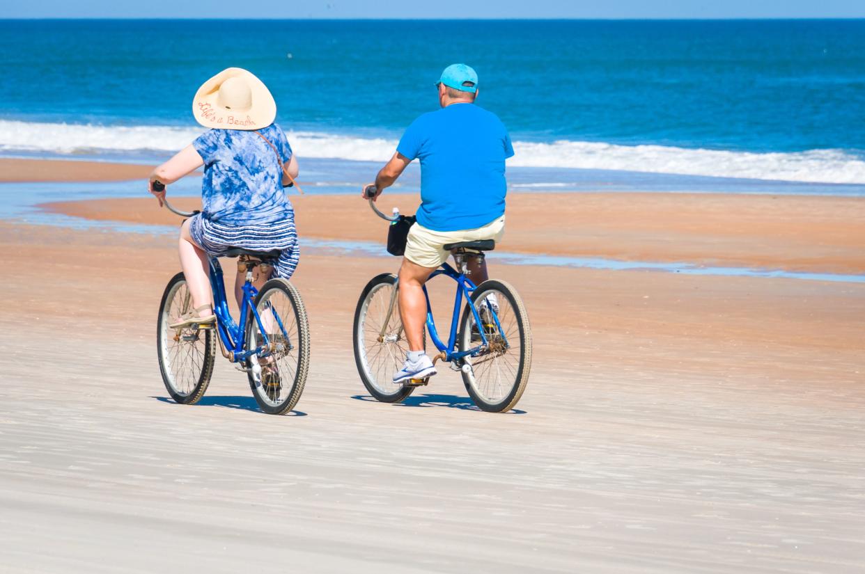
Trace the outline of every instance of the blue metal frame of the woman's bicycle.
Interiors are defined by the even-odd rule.
[[[213,257],[210,258],[210,288],[213,290],[214,295],[214,314],[217,319],[216,330],[224,349],[223,354],[226,354],[227,359],[237,363],[247,360],[253,354],[262,357],[270,354],[270,340],[267,337],[266,328],[261,323],[261,317],[255,309],[254,304],[255,296],[258,295],[259,291],[255,289],[253,284],[249,281],[243,284],[243,300],[240,303],[240,323],[234,322],[234,317],[231,316],[231,312],[228,310],[225,279],[222,277],[222,266],[219,260]],[[259,332],[263,335],[262,344],[253,349],[246,348],[247,341],[244,336],[247,332],[247,317],[250,316],[250,313],[244,312],[244,309],[247,309],[247,307],[258,324]],[[279,318],[276,309],[273,309],[270,303],[268,303],[268,308],[279,325],[283,336],[285,336],[285,340],[288,341],[288,334],[285,333],[285,326],[282,324],[282,319]]]

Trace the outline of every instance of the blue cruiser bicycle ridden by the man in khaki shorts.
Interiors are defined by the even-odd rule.
[[[397,217],[382,214],[372,200],[369,205],[382,219],[397,220]],[[445,344],[436,330],[425,286],[426,334],[439,350],[433,362],[444,360],[453,370],[462,373],[465,389],[475,405],[484,411],[503,412],[516,405],[529,383],[532,336],[529,316],[516,289],[499,280],[475,285],[467,277],[466,258],[484,258],[484,252],[494,248],[492,240],[445,246],[453,253],[456,269],[444,263],[430,278],[451,277],[457,284],[451,332]],[[408,384],[392,380],[408,351],[396,303],[398,290],[399,280],[394,274],[373,277],[363,288],[355,310],[353,338],[357,371],[368,392],[386,403],[406,399],[415,388],[426,385],[429,380],[413,379]]]

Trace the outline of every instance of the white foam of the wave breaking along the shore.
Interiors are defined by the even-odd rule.
[[[196,127],[102,126],[0,120],[0,151],[86,154],[103,151],[183,148],[202,132]],[[302,157],[355,161],[387,160],[396,140],[315,131],[290,133]],[[562,140],[543,144],[514,142],[510,166],[616,169],[650,173],[711,175],[762,180],[865,183],[865,159],[846,150],[786,153],[685,149],[661,145],[616,145]]]

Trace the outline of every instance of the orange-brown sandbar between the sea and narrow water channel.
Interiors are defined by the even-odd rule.
[[[175,198],[186,210],[194,198]],[[382,241],[387,224],[360,197],[292,195],[304,237]],[[416,195],[384,195],[412,214]],[[95,220],[175,225],[151,198],[50,203]],[[623,261],[865,273],[865,198],[732,194],[509,194],[501,249]]]

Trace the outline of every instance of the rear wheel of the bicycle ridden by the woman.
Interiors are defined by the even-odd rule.
[[[267,414],[291,411],[304,392],[310,368],[310,323],[300,293],[285,279],[271,279],[255,297],[255,310],[265,328],[271,350],[258,357],[261,379],[248,373],[255,402]],[[255,317],[247,320],[247,349],[258,347],[264,337]]]

